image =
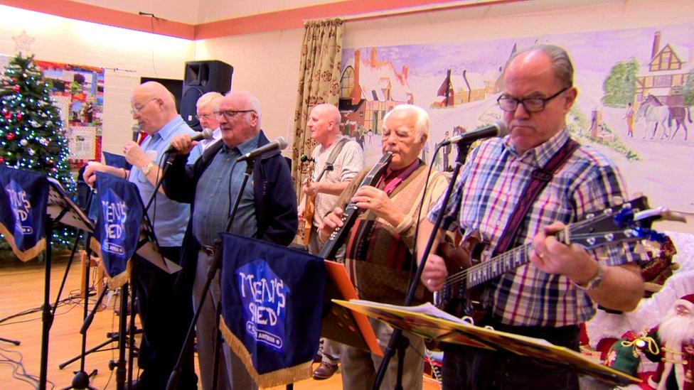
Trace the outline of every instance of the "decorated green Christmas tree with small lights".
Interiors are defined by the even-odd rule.
[[[46,173],[75,195],[68,140],[49,89],[33,55],[11,58],[0,82],[0,163]],[[56,229],[53,242],[68,244],[70,236],[68,230]]]

